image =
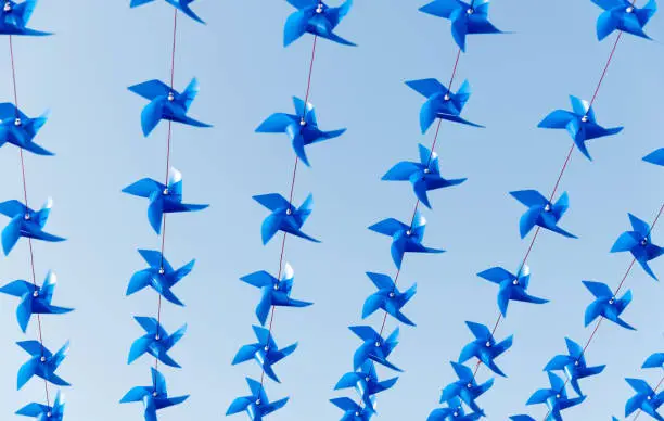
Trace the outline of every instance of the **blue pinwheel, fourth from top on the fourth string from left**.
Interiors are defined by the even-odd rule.
[[[378,233],[392,237],[390,252],[392,260],[398,269],[401,268],[404,255],[406,253],[444,253],[444,250],[425,247],[422,245],[426,219],[418,210],[414,213],[411,225],[406,225],[394,218],[383,219],[382,221],[369,227]]]

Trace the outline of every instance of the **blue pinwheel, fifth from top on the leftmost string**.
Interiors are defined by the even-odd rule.
[[[69,386],[69,383],[55,374],[55,370],[58,370],[58,367],[60,367],[65,359],[67,350],[69,349],[68,341],[55,354],[52,354],[38,341],[23,341],[16,344],[30,355],[30,359],[21,366],[18,370],[18,390],[21,390],[21,387],[23,387],[34,375],[58,386]]]

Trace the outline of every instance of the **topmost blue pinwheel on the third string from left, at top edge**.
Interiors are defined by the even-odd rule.
[[[297,9],[286,20],[283,28],[283,46],[288,47],[306,33],[329,39],[343,46],[355,43],[334,34],[334,29],[348,14],[353,0],[346,0],[339,8],[330,8],[322,0],[286,0]]]

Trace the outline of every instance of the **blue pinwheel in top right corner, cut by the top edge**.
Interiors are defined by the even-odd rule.
[[[600,41],[614,30],[622,30],[637,37],[651,39],[643,27],[657,11],[655,0],[650,0],[642,8],[634,5],[631,0],[592,0],[604,10],[597,20],[597,39]]]

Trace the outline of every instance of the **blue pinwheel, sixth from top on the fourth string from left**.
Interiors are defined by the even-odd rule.
[[[404,371],[387,361],[390,354],[399,344],[399,328],[396,328],[386,340],[383,339],[373,328],[369,326],[352,326],[348,329],[353,331],[363,344],[355,352],[353,356],[353,369],[359,369],[367,360],[372,360],[381,366],[395,371]]]

